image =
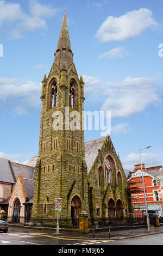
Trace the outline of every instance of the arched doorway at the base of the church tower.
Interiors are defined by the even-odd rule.
[[[82,210],[82,202],[78,196],[74,196],[71,201],[71,220],[73,225],[79,224],[79,214]]]

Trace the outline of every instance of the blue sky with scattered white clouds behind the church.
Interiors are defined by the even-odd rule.
[[[124,168],[133,169],[148,145],[146,167],[162,165],[162,7],[160,0],[0,0],[0,157],[26,163],[37,155],[40,83],[66,10],[85,110],[111,111],[110,136]],[[85,141],[100,137],[85,131]]]

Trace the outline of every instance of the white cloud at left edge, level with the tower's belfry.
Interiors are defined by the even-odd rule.
[[[17,82],[18,85],[15,85],[15,81],[17,81],[15,78],[0,77],[0,101],[5,102],[10,98],[10,102],[13,100],[12,115],[22,115],[28,108],[36,108],[40,105],[41,84],[28,81],[22,84]]]

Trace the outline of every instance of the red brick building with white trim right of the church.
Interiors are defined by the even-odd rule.
[[[145,164],[142,164],[143,177],[145,181],[145,191],[147,199],[148,214],[153,215],[157,212],[160,217],[163,217],[163,185],[161,174],[163,174],[162,166],[149,167],[145,169]],[[133,199],[133,206],[135,209],[135,216],[142,217],[146,212],[145,197],[142,184],[141,165],[135,165],[134,174],[128,179],[131,196]],[[155,175],[152,173],[154,172]],[[160,175],[156,175],[156,174]]]

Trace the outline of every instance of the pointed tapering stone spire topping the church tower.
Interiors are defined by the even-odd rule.
[[[65,63],[66,69],[69,70],[73,63],[73,53],[71,50],[70,36],[68,33],[66,12],[62,21],[61,32],[58,40],[57,50],[54,53],[54,63],[58,69],[61,70],[62,65]]]

